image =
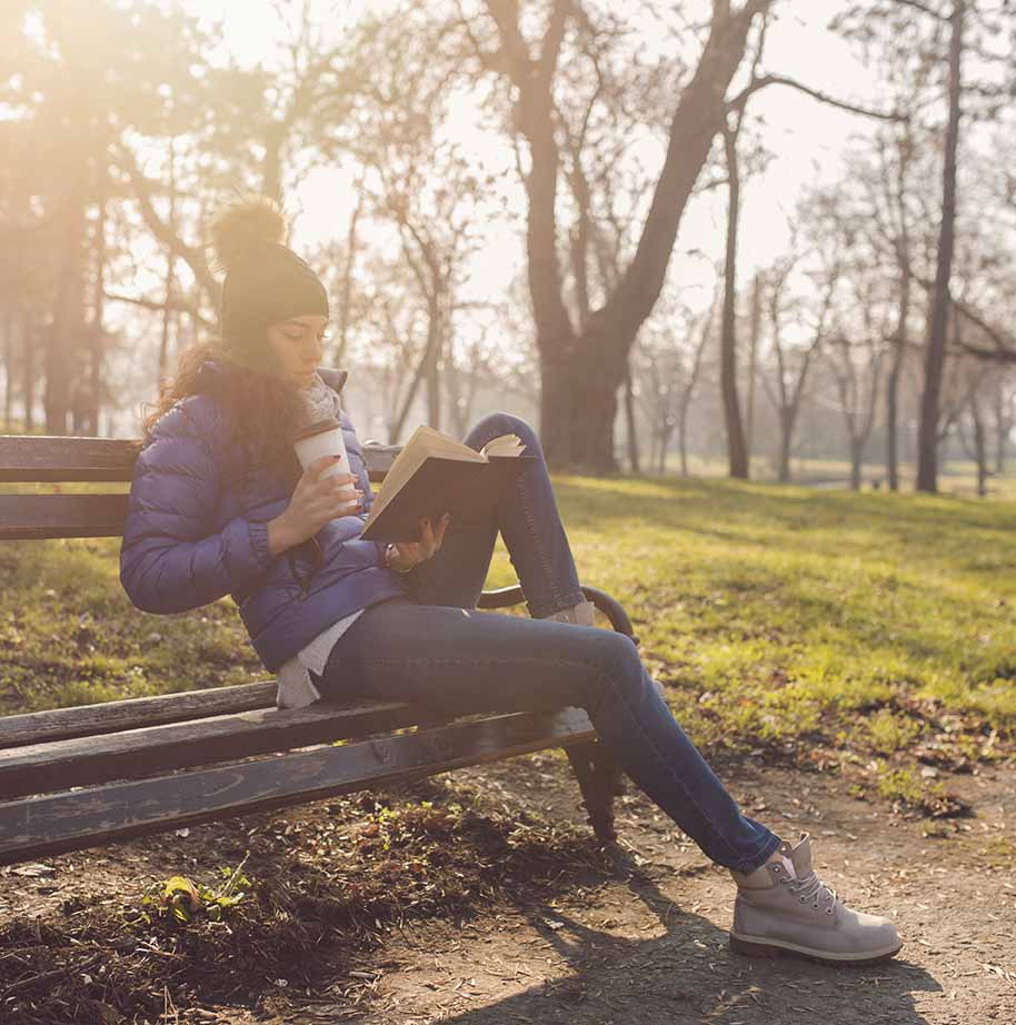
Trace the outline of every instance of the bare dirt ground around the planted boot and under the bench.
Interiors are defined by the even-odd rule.
[[[974,814],[936,826],[846,796],[831,777],[744,763],[720,773],[755,817],[786,837],[813,835],[819,874],[848,902],[895,917],[905,941],[895,961],[833,969],[731,954],[729,877],[632,789],[619,802],[621,852],[612,864],[561,869],[557,885],[516,886],[509,897],[500,892],[451,917],[378,920],[373,942],[355,955],[327,945],[312,954],[321,985],[300,993],[285,978],[272,981],[276,992],[257,1011],[235,1002],[181,1006],[167,991],[162,1019],[1016,1023],[1016,767],[950,777],[949,789]],[[502,798],[506,809],[581,820],[567,766],[550,755],[456,775]],[[177,870],[181,858],[197,858],[230,828],[195,827],[186,837],[52,858],[34,875],[24,866],[0,869],[0,923],[44,920],[83,896],[114,904]]]

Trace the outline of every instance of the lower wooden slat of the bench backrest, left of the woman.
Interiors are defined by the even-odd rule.
[[[119,537],[127,495],[0,495],[0,540]]]

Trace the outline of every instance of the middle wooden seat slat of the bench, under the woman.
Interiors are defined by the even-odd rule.
[[[448,722],[402,701],[307,708],[257,708],[187,723],[0,750],[0,794],[23,797],[113,779],[387,733],[421,722]]]

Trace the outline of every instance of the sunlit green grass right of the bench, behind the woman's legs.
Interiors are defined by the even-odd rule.
[[[557,488],[580,576],[624,601],[693,734],[743,746],[835,727],[888,754],[925,729],[912,701],[1016,728],[1016,504],[704,479]],[[510,577],[501,553],[494,579]]]

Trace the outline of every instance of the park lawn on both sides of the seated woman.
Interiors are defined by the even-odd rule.
[[[561,477],[585,583],[621,600],[709,749],[894,759],[1016,737],[1016,502]],[[116,539],[0,545],[0,714],[246,683],[231,601],[135,610]],[[490,585],[515,579],[504,550]]]

